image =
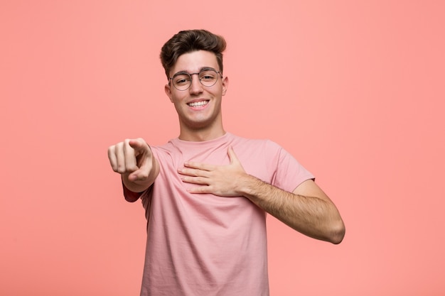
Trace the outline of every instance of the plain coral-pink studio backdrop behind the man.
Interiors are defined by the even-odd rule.
[[[156,2],[156,3],[155,3]],[[1,1],[0,295],[139,295],[107,147],[178,135],[161,45],[224,35],[227,131],[280,143],[346,224],[269,218],[272,295],[444,295],[444,1]]]

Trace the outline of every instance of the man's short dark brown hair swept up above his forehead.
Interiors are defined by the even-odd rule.
[[[223,51],[225,46],[226,43],[222,36],[215,35],[209,31],[188,30],[178,32],[161,49],[161,63],[166,71],[167,79],[178,57],[184,53],[191,53],[196,50],[207,50],[215,53],[220,72],[223,73]]]

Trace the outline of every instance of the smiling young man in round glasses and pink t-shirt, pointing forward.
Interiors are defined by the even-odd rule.
[[[345,234],[336,206],[289,153],[224,130],[224,50],[203,30],[168,40],[161,62],[178,138],[109,147],[124,197],[146,209],[141,295],[269,295],[266,213],[314,239],[340,243]]]

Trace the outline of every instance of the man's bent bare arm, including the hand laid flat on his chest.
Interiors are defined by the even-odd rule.
[[[242,168],[232,148],[230,165],[185,163],[179,172],[184,182],[205,185],[189,190],[225,197],[244,196],[296,231],[315,239],[341,243],[345,234],[343,220],[331,199],[313,180],[301,183],[294,192],[269,185]]]

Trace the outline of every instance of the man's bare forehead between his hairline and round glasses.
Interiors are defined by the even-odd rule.
[[[212,67],[219,70],[218,60],[215,53],[206,50],[184,53],[178,57],[175,65],[171,69],[171,75],[177,72],[186,71],[189,73],[199,72],[203,67]]]

